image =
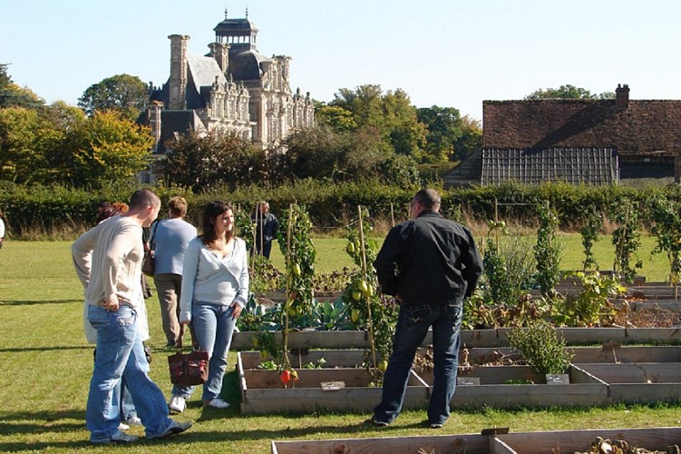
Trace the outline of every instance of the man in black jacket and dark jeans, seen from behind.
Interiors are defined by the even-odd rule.
[[[400,303],[383,396],[372,419],[376,426],[387,426],[400,414],[413,357],[431,327],[434,382],[428,423],[438,429],[449,418],[463,299],[470,297],[478,284],[482,258],[472,233],[439,213],[440,202],[433,189],[416,192],[412,219],[388,232],[374,262],[383,292]]]

